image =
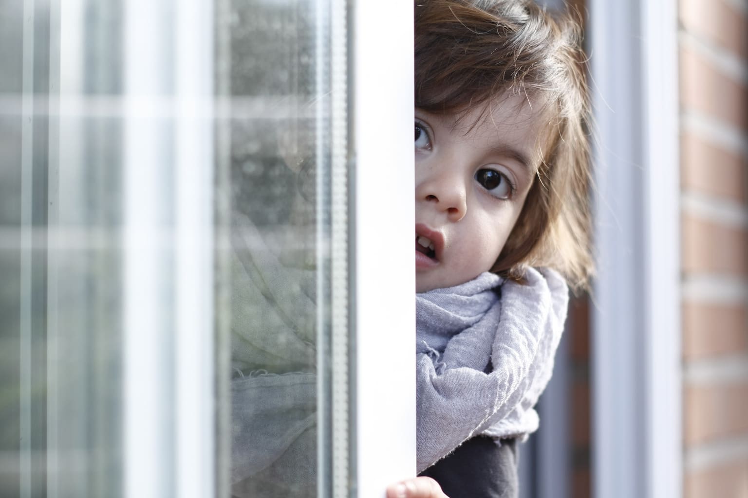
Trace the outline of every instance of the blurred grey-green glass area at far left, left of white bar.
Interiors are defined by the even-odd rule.
[[[59,15],[0,4],[0,495],[117,497],[121,129],[92,102],[120,93],[120,12],[69,2],[65,43]]]

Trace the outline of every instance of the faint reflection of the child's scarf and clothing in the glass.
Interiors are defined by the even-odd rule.
[[[231,495],[313,497],[316,275],[283,264],[242,215],[231,242]]]

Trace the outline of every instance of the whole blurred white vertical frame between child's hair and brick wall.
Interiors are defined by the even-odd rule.
[[[589,5],[598,497],[682,496],[676,7],[674,0]]]

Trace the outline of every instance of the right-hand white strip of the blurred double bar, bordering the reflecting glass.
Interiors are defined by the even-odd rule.
[[[175,4],[176,5],[176,4]],[[176,7],[176,494],[215,494],[212,1]]]

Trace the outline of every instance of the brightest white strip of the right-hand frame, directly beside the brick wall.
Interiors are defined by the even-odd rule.
[[[682,497],[678,2],[641,2],[646,85],[649,497]]]

